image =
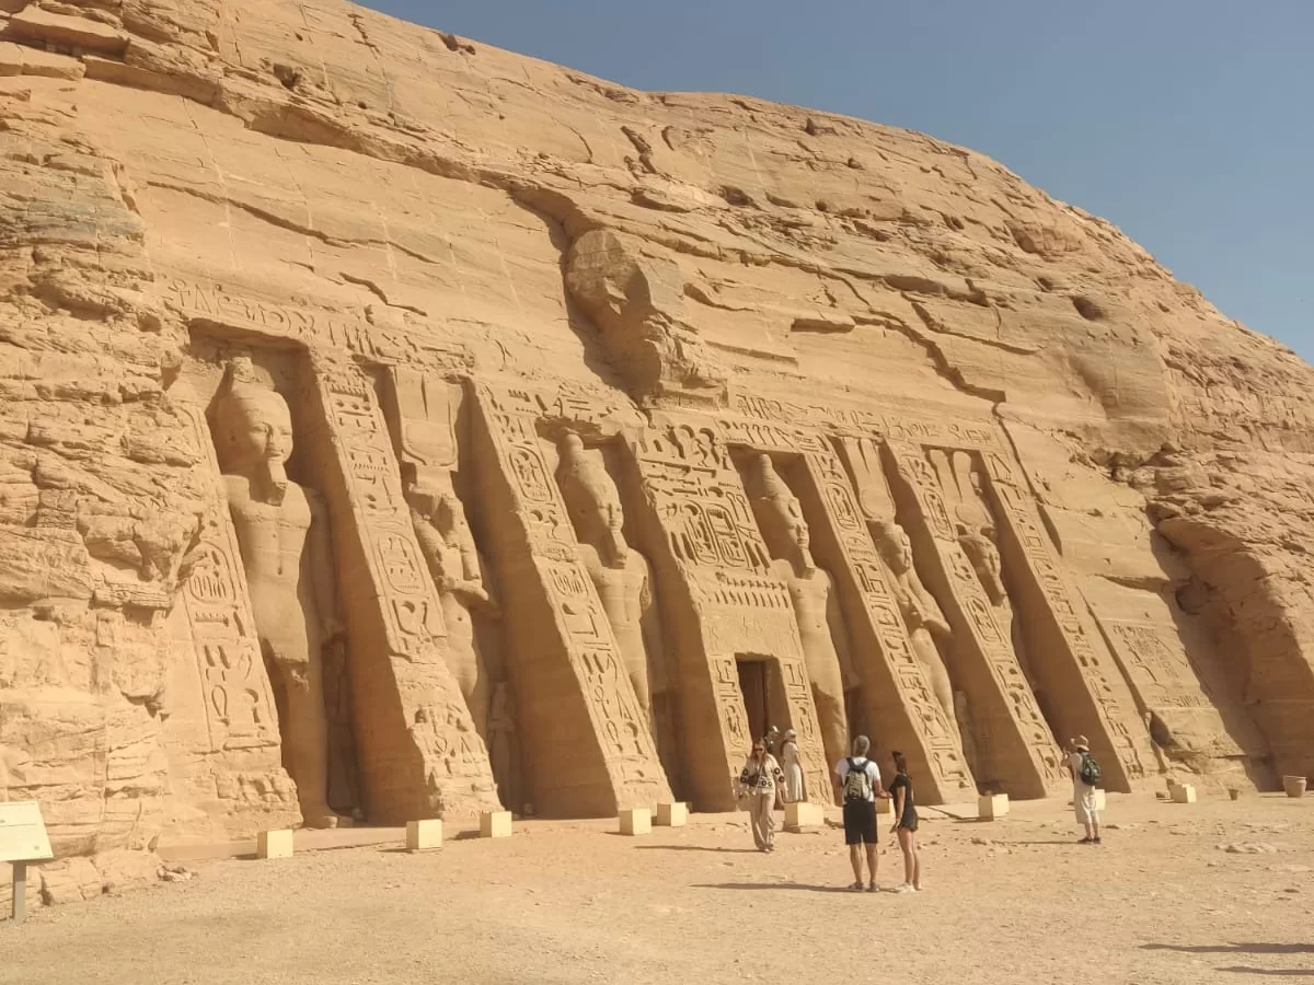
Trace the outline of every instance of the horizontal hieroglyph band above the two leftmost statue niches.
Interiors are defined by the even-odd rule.
[[[343,318],[313,305],[276,305],[244,297],[217,284],[172,278],[164,285],[164,302],[193,326],[223,326],[276,341],[328,347],[367,356],[380,362],[413,362],[448,369],[468,369],[469,352],[427,331],[372,324],[367,318]]]

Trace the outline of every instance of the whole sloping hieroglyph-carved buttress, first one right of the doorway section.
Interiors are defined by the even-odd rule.
[[[819,524],[817,533],[825,532],[832,550],[842,561],[832,563],[832,573],[844,596],[854,638],[866,717],[876,724],[880,746],[897,749],[908,756],[909,768],[921,784],[918,797],[922,802],[945,802],[961,799],[964,792],[972,793],[971,774],[913,654],[888,571],[866,528],[869,517],[883,519],[883,512],[872,506],[872,496],[887,500],[888,494],[884,489],[866,486],[861,475],[855,475],[863,503],[859,508],[849,475],[825,440],[796,435],[782,435],[777,440],[804,448],[808,478],[825,504],[824,523]],[[894,516],[892,506],[888,514]],[[817,550],[823,550],[820,537]]]

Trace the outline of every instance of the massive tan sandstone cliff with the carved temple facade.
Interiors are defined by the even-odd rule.
[[[725,809],[767,722],[812,799],[1311,772],[1314,374],[999,164],[332,0],[0,0],[0,76],[60,852]]]

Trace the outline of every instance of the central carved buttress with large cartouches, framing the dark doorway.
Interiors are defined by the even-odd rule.
[[[710,427],[669,424],[645,429],[632,452],[646,519],[660,524],[649,542],[662,604],[677,613],[668,630],[695,806],[732,809],[733,779],[753,741],[736,657],[765,659],[779,674],[788,721],[771,724],[798,733],[808,800],[832,802],[794,603],[771,574],[725,445]]]

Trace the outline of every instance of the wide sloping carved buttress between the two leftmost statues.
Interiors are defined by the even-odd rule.
[[[306,395],[327,458],[347,609],[357,756],[372,821],[498,806],[482,739],[443,662],[445,626],[402,498],[372,382],[347,353],[313,351]]]

